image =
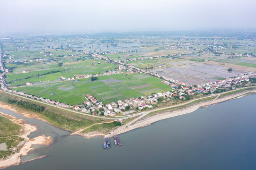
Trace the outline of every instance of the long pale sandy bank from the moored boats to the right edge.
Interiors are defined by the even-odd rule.
[[[220,96],[213,102],[212,102],[212,100],[206,100],[206,101],[198,102],[198,103],[194,103],[194,104],[192,103],[192,104],[189,104],[188,106],[179,106],[178,108],[174,108],[174,110],[169,109],[169,110],[159,111],[152,115],[149,114],[148,116],[141,116],[141,119],[136,120],[131,125],[128,125],[128,126],[123,125],[123,128],[119,127],[117,129],[117,131],[115,130],[115,131],[110,132],[111,133],[110,136],[122,134],[122,133],[128,132],[128,131],[136,129],[136,128],[149,126],[152,123],[157,122],[159,120],[168,119],[168,118],[191,113],[191,112],[199,109],[200,107],[208,107],[208,105],[211,102],[212,102],[211,104],[217,104],[220,102],[225,102],[228,100],[244,97],[244,96],[252,94],[252,93],[256,93],[256,89],[247,90],[247,91],[238,92],[238,93],[232,93],[230,95]],[[109,135],[106,135],[106,136],[109,136]]]

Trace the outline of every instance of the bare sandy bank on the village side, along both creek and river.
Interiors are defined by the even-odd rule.
[[[104,137],[106,137],[106,136],[113,136],[114,134],[122,134],[122,133],[125,133],[127,131],[133,130],[135,128],[148,126],[148,125],[150,125],[150,124],[152,124],[156,121],[162,120],[162,119],[168,119],[168,118],[171,118],[171,117],[191,113],[191,112],[199,109],[200,107],[207,107],[210,102],[212,102],[212,104],[216,104],[218,102],[224,102],[224,101],[227,101],[227,100],[230,100],[230,99],[233,99],[233,98],[237,98],[237,97],[241,97],[243,95],[246,95],[247,93],[249,93],[251,91],[252,90],[250,89],[250,90],[245,90],[245,91],[242,91],[242,92],[230,93],[229,95],[227,95],[227,94],[225,94],[223,96],[220,95],[220,97],[215,99],[213,102],[212,102],[212,100],[214,99],[214,97],[209,97],[210,100],[199,99],[198,101],[202,100],[203,102],[196,101],[196,102],[193,102],[193,103],[190,103],[190,104],[177,106],[177,108],[175,107],[175,108],[170,108],[170,109],[166,109],[166,110],[159,110],[156,113],[155,113],[155,111],[152,111],[152,110],[147,111],[148,113],[146,113],[145,115],[141,115],[140,117],[131,120],[130,122],[134,121],[132,123],[128,122],[127,124],[124,124],[121,127],[109,129],[109,131],[111,131],[110,132],[111,135],[108,135],[109,131],[107,131],[107,132],[105,131],[103,133],[103,131],[98,131],[98,129],[97,130],[93,129],[92,131],[87,131],[87,132],[85,132],[85,130],[86,129],[88,130],[88,128],[91,128],[92,126],[95,127],[95,125],[99,126],[99,125],[102,125],[102,124],[111,123],[113,121],[99,122],[99,123],[91,124],[87,127],[78,128],[77,130],[74,130],[71,135],[79,135],[79,136],[84,136],[86,138],[91,138],[91,137],[94,137],[94,136],[104,136]],[[42,119],[42,118],[38,117],[38,114],[33,114],[33,112],[29,111],[29,110],[24,112],[24,109],[19,109],[19,107],[17,107],[17,106],[12,107],[12,105],[9,104],[9,103],[0,102],[0,107],[2,107],[4,109],[9,109],[9,110],[15,111],[15,112],[20,113],[23,116],[28,117],[28,118],[36,118],[36,119],[41,119],[41,120],[45,121],[45,119]],[[48,122],[48,121],[46,121],[46,122]],[[51,124],[51,122],[48,122],[48,123]],[[62,126],[57,126],[57,127],[62,127]],[[66,128],[63,128],[63,129],[66,130]]]

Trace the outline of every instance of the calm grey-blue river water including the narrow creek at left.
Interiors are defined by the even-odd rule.
[[[104,139],[69,136],[69,132],[36,119],[0,109],[38,125],[35,137],[53,136],[54,144],[37,145],[6,170],[245,170],[256,169],[256,94],[200,108],[151,126],[119,135],[123,146],[103,149]]]

